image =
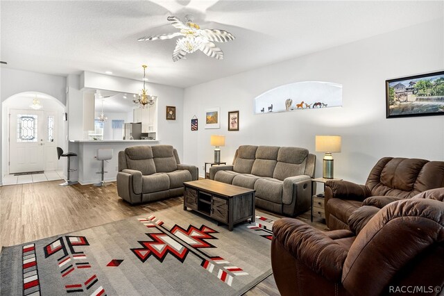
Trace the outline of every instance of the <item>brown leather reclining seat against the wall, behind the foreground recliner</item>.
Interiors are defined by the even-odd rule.
[[[348,229],[348,218],[361,206],[382,208],[429,189],[444,187],[444,161],[381,158],[366,185],[329,180],[325,183],[325,221],[330,230]]]

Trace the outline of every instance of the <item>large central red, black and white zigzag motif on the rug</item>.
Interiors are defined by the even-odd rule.
[[[154,215],[148,218],[138,218],[138,220],[151,229],[150,233],[146,233],[149,240],[138,241],[142,247],[131,249],[140,261],[146,262],[148,258],[153,257],[163,262],[168,255],[171,255],[184,263],[187,256],[192,254],[192,256],[200,258],[200,266],[215,274],[229,286],[232,285],[234,277],[248,275],[248,272],[221,256],[212,256],[203,251],[205,248],[216,248],[207,240],[217,240],[213,234],[218,231],[205,225],[195,227],[191,224],[187,229],[178,224],[174,224],[169,229],[162,220],[157,219]]]

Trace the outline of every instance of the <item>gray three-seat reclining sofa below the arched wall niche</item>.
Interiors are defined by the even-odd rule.
[[[298,147],[240,146],[233,165],[210,168],[210,179],[256,190],[256,206],[294,216],[311,206],[316,156]]]

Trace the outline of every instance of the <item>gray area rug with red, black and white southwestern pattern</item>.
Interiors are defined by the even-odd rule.
[[[1,295],[241,295],[271,274],[271,227],[176,206],[1,251]]]

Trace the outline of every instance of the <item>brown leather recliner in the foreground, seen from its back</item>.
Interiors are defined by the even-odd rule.
[[[444,289],[444,203],[388,204],[355,236],[299,220],[273,225],[273,275],[281,295],[440,295]],[[416,289],[416,290],[415,290]]]

